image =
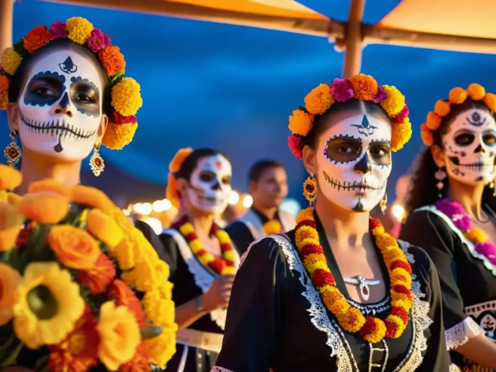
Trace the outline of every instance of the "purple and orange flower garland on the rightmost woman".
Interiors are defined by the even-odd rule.
[[[496,247],[489,241],[484,230],[472,228],[472,220],[460,203],[448,198],[439,199],[435,207],[444,213],[465,238],[474,244],[477,253],[485,256],[493,265],[496,265]]]

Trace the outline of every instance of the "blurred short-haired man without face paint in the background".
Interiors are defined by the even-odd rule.
[[[281,163],[255,163],[249,170],[248,186],[253,204],[243,217],[226,228],[241,253],[254,241],[296,226],[295,216],[279,209],[288,196],[288,176]]]

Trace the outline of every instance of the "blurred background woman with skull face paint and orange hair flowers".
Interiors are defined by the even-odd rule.
[[[227,207],[232,169],[218,151],[190,148],[178,151],[169,165],[166,196],[181,215],[160,236],[174,284],[179,328],[222,334],[231,286],[240,257],[229,235],[215,218]],[[177,345],[166,371],[210,371],[217,354]]]

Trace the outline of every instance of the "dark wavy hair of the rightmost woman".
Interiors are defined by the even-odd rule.
[[[444,101],[447,102],[447,100]],[[483,102],[473,101],[470,98],[460,105],[451,105],[451,111],[448,115],[442,118],[439,128],[434,131],[434,145],[442,148],[442,137],[448,132],[449,125],[453,123],[453,121],[461,113],[471,109],[480,109],[492,116],[495,116],[495,113],[492,112]],[[439,198],[439,193],[441,194],[441,197],[446,197],[449,189],[449,180],[448,177],[443,180],[444,186],[439,191],[436,187],[436,183],[438,181],[434,177],[434,174],[438,171],[438,169],[439,168],[434,163],[431,147],[426,147],[420,152],[415,161],[415,167],[412,174],[412,179],[410,180],[410,189],[405,206],[407,215],[417,208],[434,204]],[[442,170],[444,172],[446,171],[444,168]],[[482,196],[482,204],[495,210],[496,197],[493,193],[494,190],[489,186],[486,186]]]

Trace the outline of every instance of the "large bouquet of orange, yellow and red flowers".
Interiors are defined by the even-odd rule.
[[[0,166],[0,367],[141,372],[175,353],[169,266],[101,191]]]

